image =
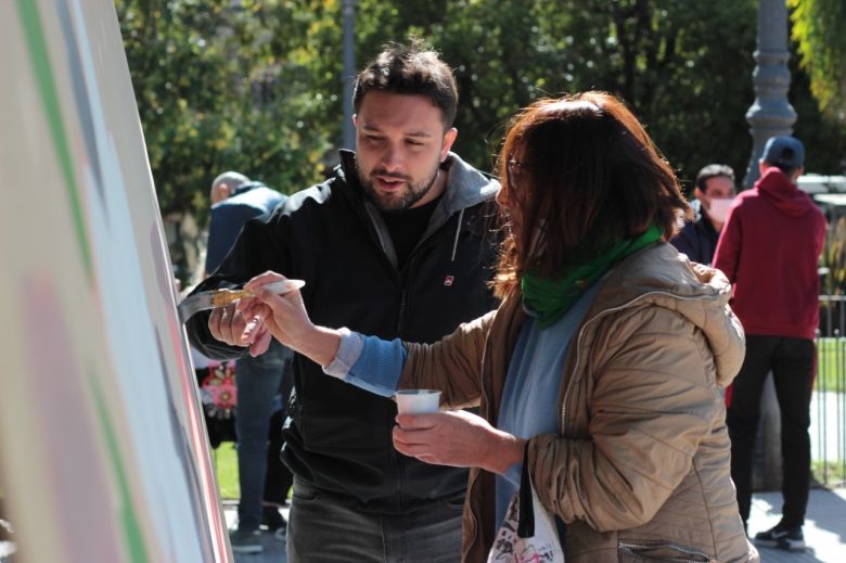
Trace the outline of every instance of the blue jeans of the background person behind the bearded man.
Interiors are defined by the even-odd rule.
[[[242,530],[258,529],[261,523],[270,415],[282,378],[292,376],[292,359],[293,353],[289,348],[272,341],[267,353],[258,358],[240,359],[235,364],[235,433],[241,486],[238,527]],[[287,397],[282,400],[286,402]]]

